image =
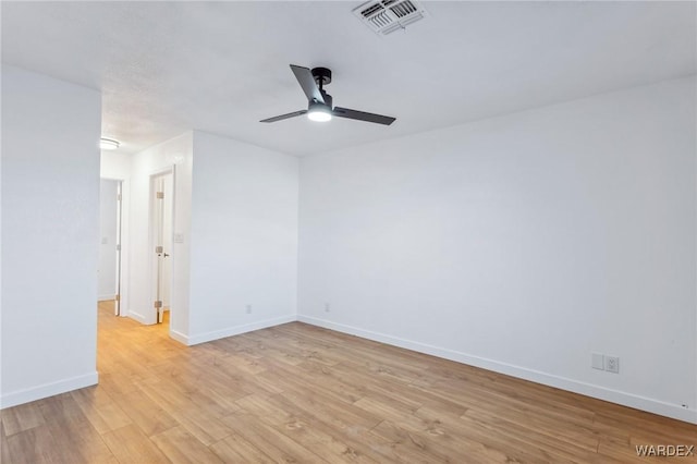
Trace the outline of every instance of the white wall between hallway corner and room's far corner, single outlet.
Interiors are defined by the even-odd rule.
[[[295,320],[297,159],[194,132],[194,160],[187,342]]]

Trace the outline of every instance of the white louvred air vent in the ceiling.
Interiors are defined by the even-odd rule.
[[[355,9],[353,14],[378,35],[388,35],[423,20],[426,10],[416,0],[374,0]]]

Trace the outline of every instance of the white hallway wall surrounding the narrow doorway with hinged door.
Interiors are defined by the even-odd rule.
[[[183,242],[175,243],[172,249],[170,334],[184,342],[189,331],[192,137],[191,132],[182,134],[133,155],[131,162],[129,316],[143,323],[156,321],[150,266],[154,256],[149,236],[150,176],[174,169],[174,233],[181,234]]]

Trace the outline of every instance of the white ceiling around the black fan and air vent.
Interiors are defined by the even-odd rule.
[[[2,1],[2,62],[102,91],[135,152],[196,129],[307,155],[697,71],[695,2],[425,2],[379,37],[362,2]],[[334,105],[382,126],[264,118],[306,108],[289,64],[327,66]]]

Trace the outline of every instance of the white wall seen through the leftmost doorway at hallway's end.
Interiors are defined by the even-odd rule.
[[[119,181],[99,183],[99,257],[97,260],[97,298],[113,300],[117,294],[117,224]]]

